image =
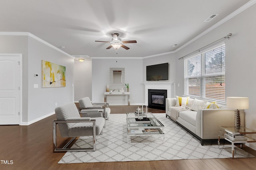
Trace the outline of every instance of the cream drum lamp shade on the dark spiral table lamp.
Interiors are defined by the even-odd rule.
[[[249,109],[249,98],[227,97],[226,104],[230,109]]]

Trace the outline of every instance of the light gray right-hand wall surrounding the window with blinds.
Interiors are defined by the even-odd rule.
[[[182,86],[176,88],[176,94],[184,94],[184,63],[178,58],[183,57],[232,33],[226,39],[226,97],[249,97],[250,109],[246,109],[246,127],[256,130],[256,5],[241,12],[234,18],[216,27],[200,39],[194,41],[176,53],[176,83]],[[256,149],[256,144],[248,144]]]

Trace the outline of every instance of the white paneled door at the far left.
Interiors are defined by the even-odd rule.
[[[20,124],[20,55],[0,55],[0,125]]]

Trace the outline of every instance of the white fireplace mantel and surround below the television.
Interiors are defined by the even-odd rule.
[[[143,83],[145,85],[145,105],[148,106],[148,89],[167,90],[167,98],[175,98],[176,84],[165,82]]]

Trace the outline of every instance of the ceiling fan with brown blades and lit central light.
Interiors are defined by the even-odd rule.
[[[120,47],[123,47],[124,49],[128,50],[130,49],[129,47],[125,46],[125,43],[137,43],[136,40],[132,41],[122,41],[118,35],[119,33],[113,33],[112,35],[112,41],[95,41],[95,42],[102,42],[102,43],[112,43],[108,48],[106,49],[111,49],[114,47],[114,49],[119,49]]]

